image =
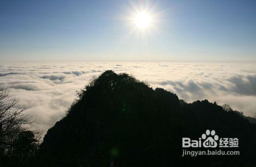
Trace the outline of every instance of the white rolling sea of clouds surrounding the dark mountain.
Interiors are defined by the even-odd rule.
[[[256,116],[256,64],[173,62],[0,63],[0,86],[27,107],[35,127],[47,132],[93,77],[112,69],[162,87],[186,102],[208,99]]]

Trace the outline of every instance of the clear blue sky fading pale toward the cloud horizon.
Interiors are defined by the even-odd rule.
[[[142,34],[125,18],[157,14]],[[256,1],[0,0],[0,61],[256,62]]]

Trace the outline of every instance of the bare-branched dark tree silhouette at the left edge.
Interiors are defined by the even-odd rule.
[[[40,131],[31,131],[31,116],[25,107],[0,88],[0,166],[20,166],[35,154]]]

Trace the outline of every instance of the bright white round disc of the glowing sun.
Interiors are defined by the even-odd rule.
[[[146,11],[139,11],[134,17],[134,24],[139,29],[147,29],[152,25],[152,16]]]

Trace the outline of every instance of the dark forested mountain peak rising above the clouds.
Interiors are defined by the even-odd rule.
[[[222,150],[239,150],[240,155],[182,157],[182,137],[198,139],[206,129],[239,138],[239,148]],[[32,163],[254,166],[255,132],[255,124],[216,103],[187,104],[162,88],[154,90],[127,74],[107,70],[79,93],[67,116],[48,130]]]

